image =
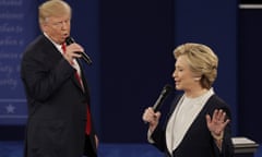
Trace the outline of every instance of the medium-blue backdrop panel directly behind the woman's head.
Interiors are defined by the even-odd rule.
[[[215,93],[231,108],[233,134],[238,133],[237,0],[177,0],[175,44],[209,45],[218,56]]]

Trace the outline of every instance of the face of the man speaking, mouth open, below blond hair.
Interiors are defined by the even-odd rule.
[[[55,43],[62,44],[70,35],[70,15],[50,16],[41,28]]]

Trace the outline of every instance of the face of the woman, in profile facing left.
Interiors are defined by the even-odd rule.
[[[177,58],[172,77],[176,89],[179,90],[192,90],[196,85],[200,85],[198,78],[194,76],[187,62],[186,56],[180,56]]]

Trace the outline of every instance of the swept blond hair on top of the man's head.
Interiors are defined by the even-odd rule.
[[[47,22],[50,16],[61,16],[64,14],[70,14],[71,16],[71,7],[62,0],[49,0],[38,8],[39,24]]]

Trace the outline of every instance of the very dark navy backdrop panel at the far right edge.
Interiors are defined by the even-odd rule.
[[[262,143],[261,4],[239,10],[239,133],[258,143]]]

